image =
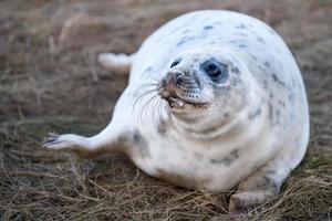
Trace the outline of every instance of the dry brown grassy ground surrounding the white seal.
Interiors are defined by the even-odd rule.
[[[305,159],[278,198],[242,219],[332,219],[331,0],[2,0],[1,220],[229,220],[229,193],[174,187],[122,155],[82,160],[40,146],[48,131],[90,136],[107,125],[127,80],[101,69],[100,52],[132,53],[156,28],[197,9],[269,23],[292,49],[307,85]]]

